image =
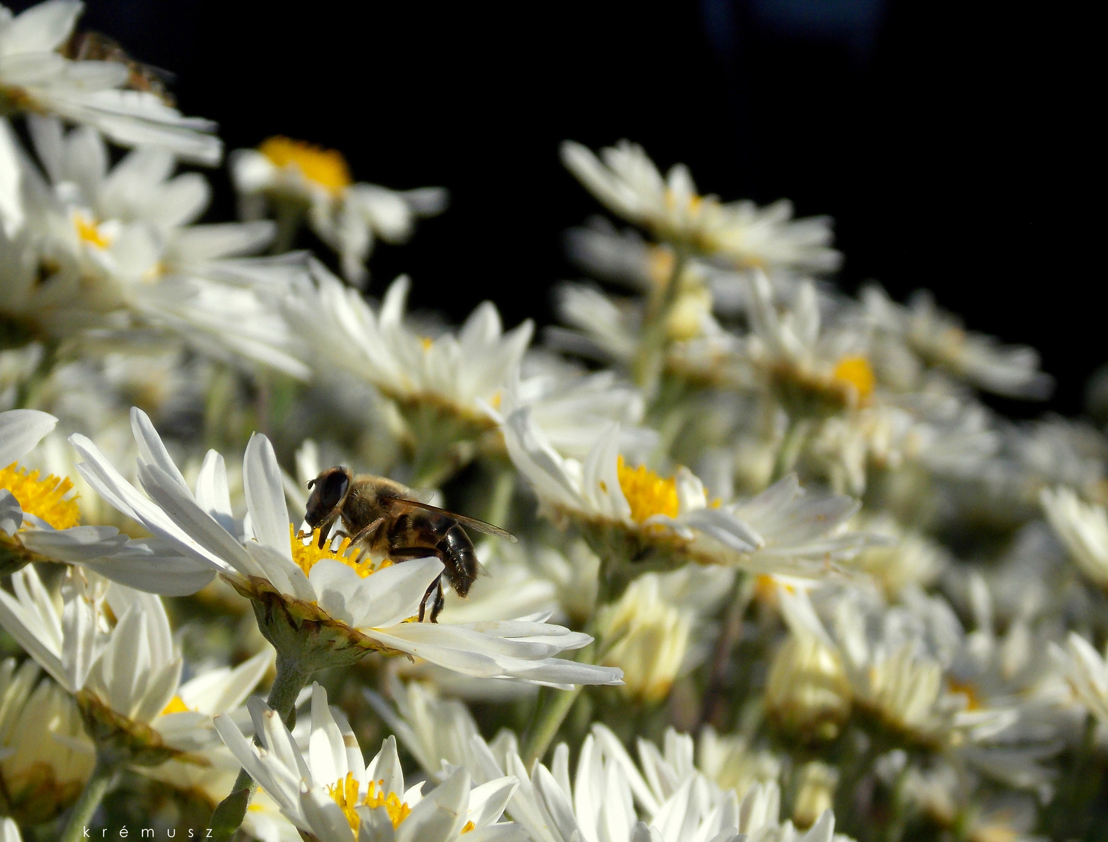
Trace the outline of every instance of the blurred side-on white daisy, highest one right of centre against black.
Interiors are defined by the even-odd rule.
[[[792,219],[787,201],[765,208],[700,196],[681,164],[663,178],[640,146],[620,141],[601,152],[562,144],[562,162],[614,213],[660,240],[679,243],[738,266],[782,266],[811,271],[838,268],[828,217]]]

